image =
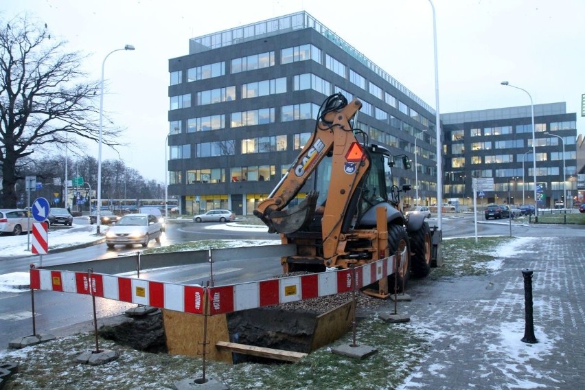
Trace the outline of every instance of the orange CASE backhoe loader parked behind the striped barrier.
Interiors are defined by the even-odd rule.
[[[282,257],[285,273],[347,268],[399,253],[398,275],[389,283],[404,286],[411,273],[424,277],[441,262],[440,231],[428,227],[425,214],[402,213],[400,193],[411,186],[395,185],[392,168],[401,162],[409,169],[410,160],[352,128],[361,106],[341,93],[323,102],[307,144],[254,215],[283,244],[297,246],[295,255]]]

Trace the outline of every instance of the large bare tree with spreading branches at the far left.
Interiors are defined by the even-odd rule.
[[[100,82],[87,81],[79,52],[65,52],[65,41],[51,39],[47,25],[27,16],[0,21],[0,206],[16,207],[19,160],[36,150],[81,139],[98,140],[95,123]],[[102,129],[105,144],[115,145],[119,129]]]

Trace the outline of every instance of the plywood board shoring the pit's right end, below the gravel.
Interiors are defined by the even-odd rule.
[[[352,328],[356,306],[354,301],[347,301],[317,317],[311,341],[310,352],[324,345],[333,343]]]

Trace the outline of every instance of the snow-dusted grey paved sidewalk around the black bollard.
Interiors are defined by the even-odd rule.
[[[488,277],[426,280],[399,306],[431,335],[399,389],[585,389],[585,240],[535,238]],[[525,331],[523,269],[534,271],[534,329]]]

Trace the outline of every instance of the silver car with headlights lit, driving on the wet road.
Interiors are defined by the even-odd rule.
[[[152,214],[126,214],[106,231],[106,245],[116,244],[148,246],[150,240],[161,242],[163,226]]]

